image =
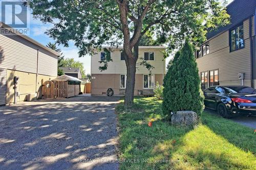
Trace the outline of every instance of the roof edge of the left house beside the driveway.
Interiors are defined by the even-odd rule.
[[[8,26],[7,24],[5,24],[5,23],[2,22],[2,21],[0,21],[0,28],[4,28],[4,29],[7,29],[7,30],[13,30],[12,27]],[[16,34],[16,33],[14,33],[14,34]],[[33,43],[33,44],[35,44],[35,45],[37,45],[37,46],[43,48],[44,50],[46,50],[46,51],[48,51],[48,52],[50,52],[50,53],[52,53],[52,54],[54,54],[54,55],[56,55],[56,56],[60,56],[59,53],[55,52],[55,51],[52,50],[51,48],[48,48],[47,46],[41,44],[40,42],[38,42],[38,41],[36,41],[36,40],[34,40],[34,39],[32,39],[32,38],[30,38],[30,37],[24,35],[24,34],[18,33],[18,34],[16,34],[16,35],[18,35],[18,36],[20,36],[20,37],[26,39],[27,41],[29,41],[29,42],[31,42],[31,43]]]

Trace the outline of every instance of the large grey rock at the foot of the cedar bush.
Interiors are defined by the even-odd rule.
[[[198,116],[194,111],[178,111],[171,120],[173,125],[194,126],[198,123]]]

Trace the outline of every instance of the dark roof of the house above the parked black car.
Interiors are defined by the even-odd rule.
[[[238,25],[243,20],[254,15],[256,8],[255,0],[234,0],[227,7],[227,13],[230,15],[230,24],[224,27],[220,27],[216,31],[208,32],[207,40],[216,36],[219,33],[229,30],[230,28]]]

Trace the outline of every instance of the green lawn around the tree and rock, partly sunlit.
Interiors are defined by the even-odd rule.
[[[195,129],[174,127],[155,98],[136,98],[130,112],[122,102],[120,169],[256,169],[253,129],[206,112]]]

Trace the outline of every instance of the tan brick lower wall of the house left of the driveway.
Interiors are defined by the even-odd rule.
[[[7,69],[7,91],[6,91],[6,103],[14,102],[14,83],[13,78],[19,77],[17,84],[17,92],[19,96],[17,97],[17,102],[26,101],[27,95],[29,93],[36,93],[37,98],[41,97],[41,80],[47,81],[49,79],[54,79],[56,77],[38,75],[36,82],[36,74],[30,72],[16,71]]]

